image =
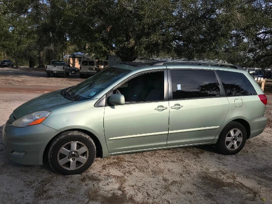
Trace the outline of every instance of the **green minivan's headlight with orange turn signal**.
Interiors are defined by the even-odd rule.
[[[16,121],[12,122],[11,125],[15,127],[25,127],[28,125],[40,124],[50,115],[50,113],[51,112],[49,111],[38,111],[31,113],[17,119]]]

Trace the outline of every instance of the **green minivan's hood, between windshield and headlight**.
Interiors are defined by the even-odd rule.
[[[49,111],[58,106],[63,106],[69,103],[75,103],[64,98],[61,95],[62,90],[53,91],[44,95],[38,96],[23,105],[19,106],[13,111],[13,115],[16,119],[19,119],[27,114],[34,113],[36,111]]]

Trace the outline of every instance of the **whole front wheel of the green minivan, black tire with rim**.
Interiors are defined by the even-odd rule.
[[[53,139],[48,150],[48,162],[59,174],[80,174],[91,166],[95,152],[91,137],[83,132],[67,131]]]

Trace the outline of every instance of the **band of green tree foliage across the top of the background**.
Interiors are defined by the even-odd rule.
[[[271,0],[0,0],[0,51],[44,66],[88,52],[272,65]]]

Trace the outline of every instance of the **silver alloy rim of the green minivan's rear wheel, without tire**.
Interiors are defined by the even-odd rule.
[[[233,128],[227,133],[225,144],[228,150],[236,150],[241,145],[242,141],[243,134],[241,130]]]

